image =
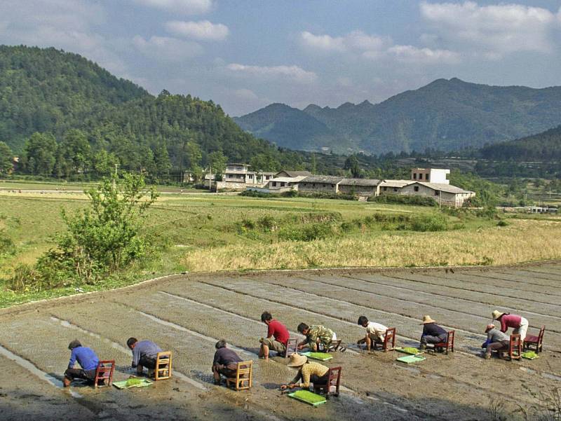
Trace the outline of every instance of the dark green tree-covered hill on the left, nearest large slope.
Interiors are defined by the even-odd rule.
[[[154,97],[54,48],[0,46],[0,93],[0,142],[29,174],[98,177],[117,164],[163,180],[226,160],[251,160],[256,170],[302,162],[302,153],[243,132],[212,101],[167,91]]]

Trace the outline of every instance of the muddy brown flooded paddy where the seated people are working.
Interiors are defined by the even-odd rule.
[[[479,357],[495,308],[521,314],[530,333],[546,325],[534,361]],[[299,322],[324,324],[349,344],[327,363],[343,367],[342,396],[318,408],[280,396],[295,374],[286,361],[257,359],[269,310],[296,336]],[[405,366],[398,352],[366,354],[359,315],[395,326],[398,345],[416,346],[422,315],[457,332],[456,352]],[[74,420],[492,420],[494,399],[518,405],[561,387],[561,264],[424,270],[317,270],[174,275],[126,289],[31,303],[0,311],[0,419]],[[62,389],[67,344],[78,338],[130,375],[129,336],[174,352],[171,380],[135,390]],[[255,361],[254,387],[212,385],[214,344],[224,338]]]

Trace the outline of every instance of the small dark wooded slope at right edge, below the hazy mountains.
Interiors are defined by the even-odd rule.
[[[561,160],[561,125],[522,139],[485,146],[481,158],[515,161]]]

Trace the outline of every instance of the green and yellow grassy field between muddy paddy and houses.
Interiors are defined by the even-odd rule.
[[[65,229],[60,209],[86,205],[81,193],[0,192],[0,230],[14,244],[0,257],[0,306],[75,291],[69,285],[13,294],[5,283],[16,265],[34,263],[53,247],[53,235]],[[434,223],[443,230],[426,232]],[[496,219],[441,214],[430,207],[345,200],[168,194],[151,208],[145,230],[163,248],[158,258],[138,262],[121,279],[79,287],[112,288],[182,271],[489,265],[561,258],[561,219],[555,216],[519,215],[497,226]]]

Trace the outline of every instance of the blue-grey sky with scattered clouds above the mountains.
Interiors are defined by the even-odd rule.
[[[559,0],[1,0],[0,43],[79,53],[231,116],[381,102],[437,78],[561,85]]]

